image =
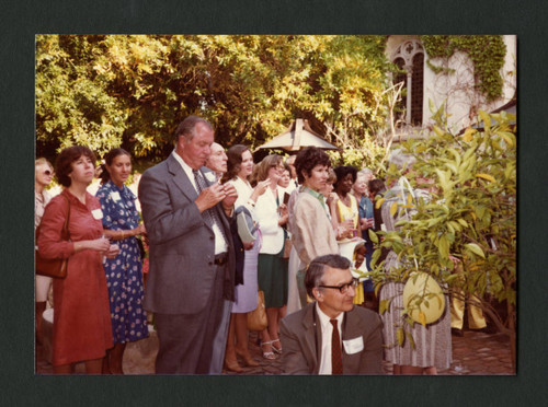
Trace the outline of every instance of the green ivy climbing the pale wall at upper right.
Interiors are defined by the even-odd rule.
[[[501,35],[423,35],[422,44],[430,58],[449,59],[455,51],[466,53],[473,62],[473,75],[478,89],[488,101],[502,95],[501,68],[506,56],[506,45]],[[426,61],[435,73],[449,73],[443,67]]]

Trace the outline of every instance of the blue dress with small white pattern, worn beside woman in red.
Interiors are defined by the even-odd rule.
[[[96,197],[103,211],[103,228],[129,231],[139,225],[135,195],[128,187],[119,188],[112,181],[103,184]],[[115,344],[125,344],[148,337],[147,316],[142,310],[142,269],[137,237],[117,243],[121,253],[105,259],[106,287],[111,303],[112,335]]]

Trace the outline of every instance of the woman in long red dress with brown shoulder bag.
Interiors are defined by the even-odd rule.
[[[85,147],[61,151],[56,176],[65,189],[42,218],[38,251],[45,258],[68,258],[66,279],[54,279],[54,373],[69,374],[83,361],[87,373],[101,373],[105,351],[113,347],[103,256],[119,249],[103,237],[99,200],[85,188],[93,179],[95,156]],[[70,202],[70,241],[61,230]]]

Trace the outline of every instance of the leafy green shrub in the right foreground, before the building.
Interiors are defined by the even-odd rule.
[[[455,136],[441,108],[433,116],[431,137],[403,143],[416,160],[408,177],[414,187],[430,188],[433,198],[391,208],[392,213],[410,208],[416,212],[399,222],[399,231],[380,232],[380,246],[393,249],[402,266],[388,275],[377,272],[375,279],[381,283],[404,280],[412,271],[429,272],[509,334],[515,357],[515,116],[481,111],[479,115],[482,129],[468,128]],[[434,187],[424,179],[434,182]],[[376,251],[374,257],[379,254]],[[455,272],[455,258],[460,272]],[[505,312],[494,309],[492,300],[504,303]]]

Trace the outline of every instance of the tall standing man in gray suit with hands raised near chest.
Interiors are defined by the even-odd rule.
[[[201,171],[214,142],[207,120],[187,117],[175,139],[173,153],[139,183],[150,242],[144,306],[155,313],[157,373],[218,374],[212,356],[217,333],[227,332],[224,300],[233,301],[229,222],[237,193]]]

